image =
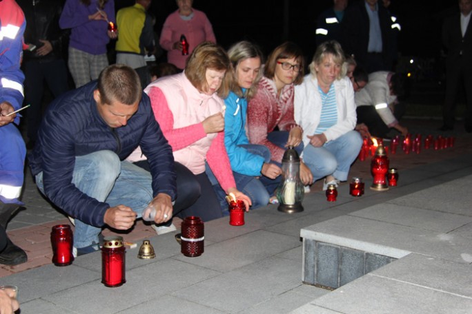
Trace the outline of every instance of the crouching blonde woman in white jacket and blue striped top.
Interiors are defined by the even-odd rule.
[[[323,189],[347,180],[362,146],[362,138],[354,130],[353,85],[346,76],[341,77],[343,63],[341,45],[326,41],[313,56],[311,74],[295,86],[295,122],[306,134],[303,162],[314,181],[325,178]]]

